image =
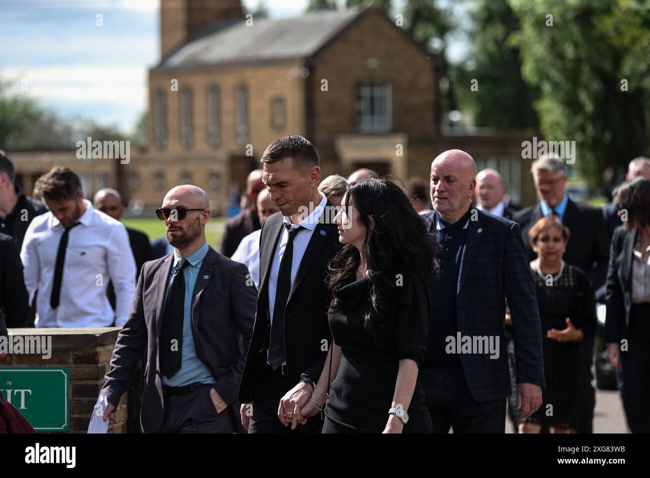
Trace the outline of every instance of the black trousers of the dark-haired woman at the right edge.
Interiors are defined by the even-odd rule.
[[[650,304],[632,305],[623,362],[623,409],[632,433],[650,433]]]

